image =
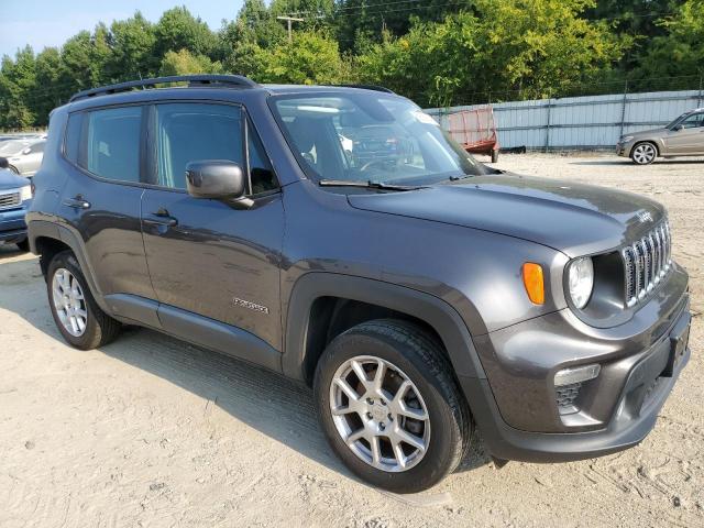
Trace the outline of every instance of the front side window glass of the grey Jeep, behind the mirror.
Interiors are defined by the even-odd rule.
[[[186,165],[201,160],[228,160],[244,166],[240,109],[229,105],[157,105],[158,185],[185,189]]]

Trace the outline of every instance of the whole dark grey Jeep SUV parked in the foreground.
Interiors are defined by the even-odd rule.
[[[407,155],[355,152],[372,128]],[[69,343],[140,324],[307,383],[338,455],[395,492],[453,471],[473,427],[498,460],[634,446],[689,359],[662,206],[488,168],[388,90],[88,90],[34,182]]]

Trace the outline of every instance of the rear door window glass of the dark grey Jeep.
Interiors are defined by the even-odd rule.
[[[88,112],[78,164],[108,179],[140,180],[141,107]]]

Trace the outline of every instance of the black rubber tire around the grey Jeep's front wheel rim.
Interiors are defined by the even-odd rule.
[[[380,358],[399,367],[418,387],[430,421],[428,448],[420,461],[386,472],[361,460],[342,440],[330,410],[330,386],[340,365],[359,355]],[[342,462],[362,480],[395,492],[427,490],[454,471],[469,450],[471,418],[442,345],[416,324],[377,319],[338,336],[320,359],[314,383],[322,429]]]

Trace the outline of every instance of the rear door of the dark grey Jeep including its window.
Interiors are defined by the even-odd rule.
[[[154,298],[140,226],[143,107],[69,116],[64,154],[72,166],[61,216],[84,245],[102,295]]]

